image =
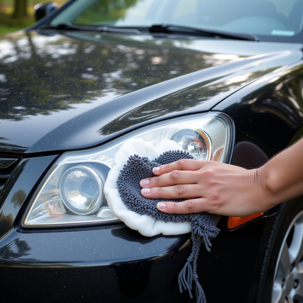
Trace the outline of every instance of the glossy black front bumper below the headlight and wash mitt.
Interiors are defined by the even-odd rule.
[[[224,300],[227,294],[235,302],[245,302],[243,293],[247,295],[251,286],[246,269],[255,266],[264,224],[260,220],[231,233],[221,221],[222,232],[213,241],[212,252],[202,249],[200,255],[199,275],[209,302]],[[189,253],[188,238],[145,238],[122,225],[30,233],[16,229],[0,242],[2,298],[191,302],[186,293],[179,293],[177,283]]]

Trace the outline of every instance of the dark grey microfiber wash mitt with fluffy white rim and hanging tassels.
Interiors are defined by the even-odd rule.
[[[132,142],[126,142],[120,148],[120,151],[123,152],[115,155],[113,161],[113,167],[108,174],[107,181],[105,183],[105,196],[108,201],[109,207],[112,209],[113,213],[119,218],[119,215],[122,213],[122,218],[125,219],[125,214],[118,211],[116,213],[117,203],[112,203],[113,199],[117,198],[117,191],[119,200],[122,200],[122,203],[126,208],[137,214],[135,222],[132,222],[130,225],[131,228],[137,229],[143,235],[146,235],[146,226],[143,225],[146,222],[146,217],[154,218],[154,225],[156,223],[162,223],[162,225],[157,226],[154,231],[148,233],[149,235],[154,235],[158,233],[162,234],[177,234],[173,233],[172,229],[175,227],[171,224],[179,224],[185,225],[182,231],[182,228],[178,228],[178,234],[191,231],[191,241],[192,241],[192,250],[189,255],[187,262],[185,263],[184,268],[181,270],[178,276],[178,283],[180,292],[183,290],[188,290],[190,297],[192,298],[191,289],[192,289],[192,281],[195,281],[195,290],[197,296],[198,303],[205,303],[205,295],[202,290],[200,283],[198,282],[197,275],[197,259],[198,253],[200,249],[200,245],[203,242],[205,244],[205,248],[210,251],[211,238],[215,238],[218,235],[219,229],[216,227],[220,216],[213,215],[205,212],[194,213],[194,214],[166,214],[161,211],[158,211],[156,204],[159,201],[167,201],[167,199],[148,199],[142,197],[140,190],[141,187],[139,185],[140,180],[143,178],[151,178],[153,177],[152,168],[155,166],[168,164],[179,159],[193,159],[193,157],[185,151],[182,151],[181,148],[176,144],[176,142],[171,140],[162,140],[157,148],[148,142],[144,142],[142,139],[132,139]],[[178,148],[176,150],[170,149],[167,150],[168,146],[170,148]],[[142,147],[145,147],[142,148]],[[136,153],[134,149],[137,149]],[[166,149],[166,151],[164,151]],[[160,155],[159,152],[161,151]],[[131,154],[129,154],[131,152]],[[141,156],[139,155],[141,154]],[[151,156],[149,159],[146,155]],[[125,160],[125,155],[128,155],[127,161],[124,162],[123,167],[121,167],[121,156],[123,155],[123,159]],[[119,174],[117,175],[117,167],[120,168]],[[113,171],[113,172],[112,172]],[[109,184],[114,181],[116,182],[116,186],[110,186]],[[109,180],[109,181],[108,181]],[[184,201],[182,199],[176,199],[170,201]],[[127,212],[127,211],[126,211]],[[121,217],[120,217],[121,219]],[[122,219],[125,222],[125,220]],[[126,220],[126,224],[129,223],[130,220]],[[135,224],[133,224],[135,223]],[[171,223],[169,225],[169,223]],[[188,226],[189,223],[189,226]],[[142,224],[142,228],[140,227]],[[128,224],[127,224],[128,225]],[[163,232],[166,227],[166,233]],[[189,230],[188,230],[189,228]],[[143,231],[143,232],[142,232]]]

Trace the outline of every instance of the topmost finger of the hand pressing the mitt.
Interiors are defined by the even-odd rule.
[[[154,167],[152,172],[154,175],[163,175],[173,170],[196,171],[203,167],[208,161],[199,161],[195,159],[181,159],[172,163]]]

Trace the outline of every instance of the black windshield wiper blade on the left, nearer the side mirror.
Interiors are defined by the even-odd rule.
[[[113,33],[130,33],[141,34],[136,28],[119,28],[114,26],[94,26],[94,25],[75,25],[70,22],[63,22],[57,25],[42,25],[39,29],[57,29],[66,31],[97,31],[97,32],[113,32]]]

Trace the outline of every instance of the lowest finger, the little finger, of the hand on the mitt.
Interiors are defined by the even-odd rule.
[[[201,211],[211,212],[206,198],[190,199],[182,202],[158,202],[157,209],[168,214],[189,214]]]

